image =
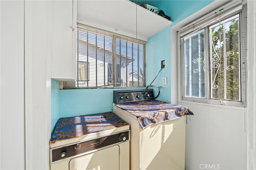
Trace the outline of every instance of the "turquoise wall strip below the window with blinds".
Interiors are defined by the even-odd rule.
[[[73,117],[113,111],[113,90],[127,89],[59,90],[60,117]]]

